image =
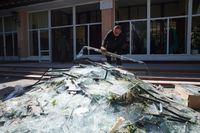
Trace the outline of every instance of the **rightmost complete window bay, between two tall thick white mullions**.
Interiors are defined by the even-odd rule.
[[[186,53],[187,8],[188,0],[151,0],[151,54]]]

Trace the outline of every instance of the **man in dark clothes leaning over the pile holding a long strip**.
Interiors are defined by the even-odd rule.
[[[107,35],[105,36],[101,51],[102,53],[109,51],[116,54],[122,53],[122,47],[125,44],[126,38],[122,34],[122,28],[120,25],[116,25],[113,30],[109,31]],[[107,62],[111,63],[111,57],[106,56]],[[121,59],[116,59],[117,65],[122,65]]]

